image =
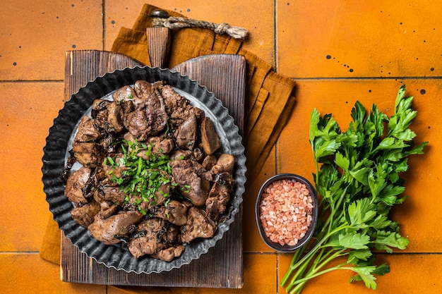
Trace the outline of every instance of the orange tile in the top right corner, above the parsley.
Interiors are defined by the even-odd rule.
[[[295,78],[441,75],[441,2],[315,3],[277,1],[280,73]]]

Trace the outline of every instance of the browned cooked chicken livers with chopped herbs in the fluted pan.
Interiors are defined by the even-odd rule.
[[[66,166],[73,219],[134,258],[166,262],[211,238],[236,181],[213,121],[164,82],[138,80],[96,99]],[[69,172],[73,161],[81,164]]]

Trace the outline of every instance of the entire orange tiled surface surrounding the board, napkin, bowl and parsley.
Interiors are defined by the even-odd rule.
[[[63,283],[59,267],[38,252],[50,216],[41,182],[42,148],[63,106],[64,54],[110,50],[143,4],[249,30],[244,48],[297,81],[297,104],[260,176],[244,195],[244,288],[121,288]],[[359,100],[391,114],[400,85],[414,96],[412,129],[428,140],[410,159],[406,195],[393,211],[410,245],[377,255],[391,272],[374,292],[333,271],[310,281],[311,293],[442,293],[441,133],[442,4],[440,1],[6,1],[0,0],[0,293],[285,293],[279,286],[292,255],[261,240],[256,193],[275,173],[311,179],[308,142],[313,108],[347,128]]]

